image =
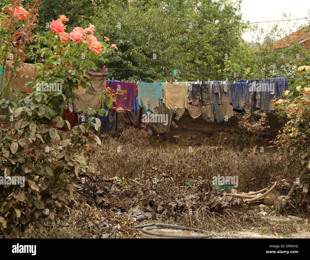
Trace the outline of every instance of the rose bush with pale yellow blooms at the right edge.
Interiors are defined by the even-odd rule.
[[[299,67],[295,75],[294,87],[298,96],[286,91],[286,99],[275,101],[279,118],[285,123],[276,144],[281,156],[304,167],[310,159],[310,66]]]

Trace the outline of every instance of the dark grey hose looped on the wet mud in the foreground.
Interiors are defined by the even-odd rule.
[[[177,234],[162,234],[162,233],[148,231],[148,229],[157,229],[157,228],[160,228],[160,227],[167,227],[167,228],[195,231],[195,232],[200,232],[200,233],[206,233],[207,232],[207,231],[205,231],[203,229],[190,228],[190,227],[178,226],[178,225],[161,224],[161,223],[153,223],[153,224],[146,224],[146,225],[135,226],[135,228],[142,228],[142,230],[145,233],[152,234],[152,235],[159,235],[159,236],[181,237],[181,238],[207,238],[207,237],[212,236],[212,234],[209,234],[209,235],[177,235]]]

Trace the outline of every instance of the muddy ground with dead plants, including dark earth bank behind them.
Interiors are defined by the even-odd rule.
[[[302,186],[284,210],[279,208],[278,197],[287,194],[299,172],[268,148],[281,126],[275,115],[267,119],[263,132],[253,131],[250,121],[242,126],[238,116],[217,124],[184,115],[167,134],[133,128],[103,134],[99,148],[80,155],[76,198],[64,221],[32,226],[26,237],[148,238],[134,226],[154,222],[203,229],[212,238],[309,237],[310,197]],[[178,143],[170,141],[175,135]],[[239,193],[282,181],[268,199],[249,204],[229,190],[217,191],[214,176],[237,177]],[[146,220],[134,222],[137,215]]]

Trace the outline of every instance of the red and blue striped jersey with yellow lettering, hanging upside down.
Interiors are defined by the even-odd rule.
[[[113,105],[110,108],[113,112],[135,111],[139,109],[136,98],[137,83],[110,80],[106,81],[107,88],[114,91]]]

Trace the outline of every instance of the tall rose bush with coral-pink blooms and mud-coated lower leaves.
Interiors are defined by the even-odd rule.
[[[89,84],[87,68],[96,69],[92,60],[99,56],[105,61],[103,54],[111,49],[98,42],[92,25],[65,32],[64,22],[68,18],[64,15],[51,21],[46,37],[33,35],[39,0],[33,2],[26,10],[20,0],[6,1],[0,13],[1,67],[10,72],[7,81],[1,80],[0,105],[14,109],[13,117],[0,118],[0,177],[7,183],[4,185],[0,179],[0,234],[4,237],[21,236],[25,226],[38,218],[54,220],[69,210],[73,183],[78,177],[77,155],[92,153],[95,144],[101,143],[98,136],[88,131],[92,125],[100,128],[100,120],[92,123],[91,115],[108,112],[101,106],[84,109],[88,122],[73,127],[67,140],[52,127],[55,122],[57,127],[67,124],[70,129],[61,114],[65,108],[73,109],[71,100],[77,97],[73,89]],[[25,53],[26,45],[30,53]],[[35,82],[26,85],[35,91],[21,96],[20,90],[10,87],[10,82],[22,74],[19,67],[25,57],[33,61],[36,75]],[[7,65],[8,60],[12,61],[11,66]],[[36,91],[38,82],[62,83],[62,91]],[[18,97],[21,106],[10,101],[8,95]],[[111,106],[110,94],[104,93],[100,99],[101,104]],[[12,185],[15,177],[25,177],[24,186]]]

